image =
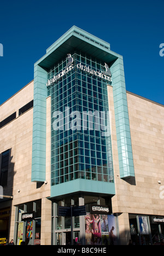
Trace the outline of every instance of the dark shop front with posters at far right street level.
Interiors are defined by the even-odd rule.
[[[164,238],[164,217],[129,214],[133,245],[161,245]]]

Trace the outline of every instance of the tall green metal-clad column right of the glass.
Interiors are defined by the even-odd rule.
[[[120,178],[129,178],[134,177],[134,165],[122,58],[114,62],[111,71]]]

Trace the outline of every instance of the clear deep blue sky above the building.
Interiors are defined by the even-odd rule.
[[[164,0],[0,2],[0,104],[33,80],[34,63],[73,25],[124,57],[126,89],[164,104]]]

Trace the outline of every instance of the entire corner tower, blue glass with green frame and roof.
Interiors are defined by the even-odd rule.
[[[75,216],[71,226],[70,213],[63,215],[59,206],[86,206],[93,214],[98,205],[112,213],[118,171],[121,179],[134,177],[123,59],[110,44],[73,26],[34,65],[31,181],[50,184],[51,178],[46,195],[55,245],[65,244],[71,228],[85,245],[86,219]],[[107,214],[102,208],[98,214]]]

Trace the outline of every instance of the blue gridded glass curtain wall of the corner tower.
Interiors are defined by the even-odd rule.
[[[81,63],[103,71],[104,63],[77,50],[72,57],[74,68],[48,88],[52,124],[51,185],[79,178],[114,182],[110,132],[104,132],[107,127],[109,130],[107,82],[77,68]],[[66,59],[56,63],[48,79],[65,67]]]

